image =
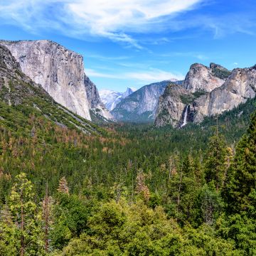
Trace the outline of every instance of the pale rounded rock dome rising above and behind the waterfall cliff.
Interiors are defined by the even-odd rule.
[[[220,65],[218,65],[221,67]],[[205,91],[211,92],[213,89],[220,87],[225,82],[224,79],[219,78],[213,70],[219,70],[218,66],[211,63],[211,68],[205,65],[195,63],[191,65],[186,78],[183,82],[183,87],[191,92]]]

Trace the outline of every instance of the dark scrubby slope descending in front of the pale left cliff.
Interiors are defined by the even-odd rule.
[[[46,90],[21,70],[8,48],[0,45],[0,119],[1,125],[12,131],[28,132],[33,119],[41,126],[49,123],[61,129],[76,129],[85,134],[99,134],[91,124],[78,114],[53,100]]]

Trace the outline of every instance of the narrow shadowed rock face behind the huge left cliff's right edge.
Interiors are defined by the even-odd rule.
[[[84,84],[90,110],[94,112],[94,114],[104,117],[106,120],[113,119],[112,114],[110,114],[100,99],[96,85],[87,77],[87,75],[85,75]]]

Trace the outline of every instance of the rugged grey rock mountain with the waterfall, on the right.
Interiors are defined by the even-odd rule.
[[[183,85],[169,85],[159,98],[156,126],[181,127],[232,110],[256,95],[256,66],[229,71],[210,63],[191,65]]]

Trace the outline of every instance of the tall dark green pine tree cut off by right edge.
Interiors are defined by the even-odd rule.
[[[224,196],[232,213],[250,210],[255,216],[256,198],[256,112],[247,134],[240,139],[228,172]],[[256,216],[255,216],[256,217]]]

